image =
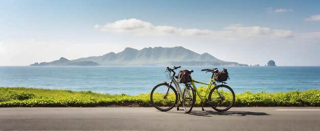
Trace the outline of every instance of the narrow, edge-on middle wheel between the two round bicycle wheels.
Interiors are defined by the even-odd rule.
[[[194,102],[196,101],[196,94],[191,86],[186,86],[182,98],[182,104],[186,113],[190,113],[194,105]]]

